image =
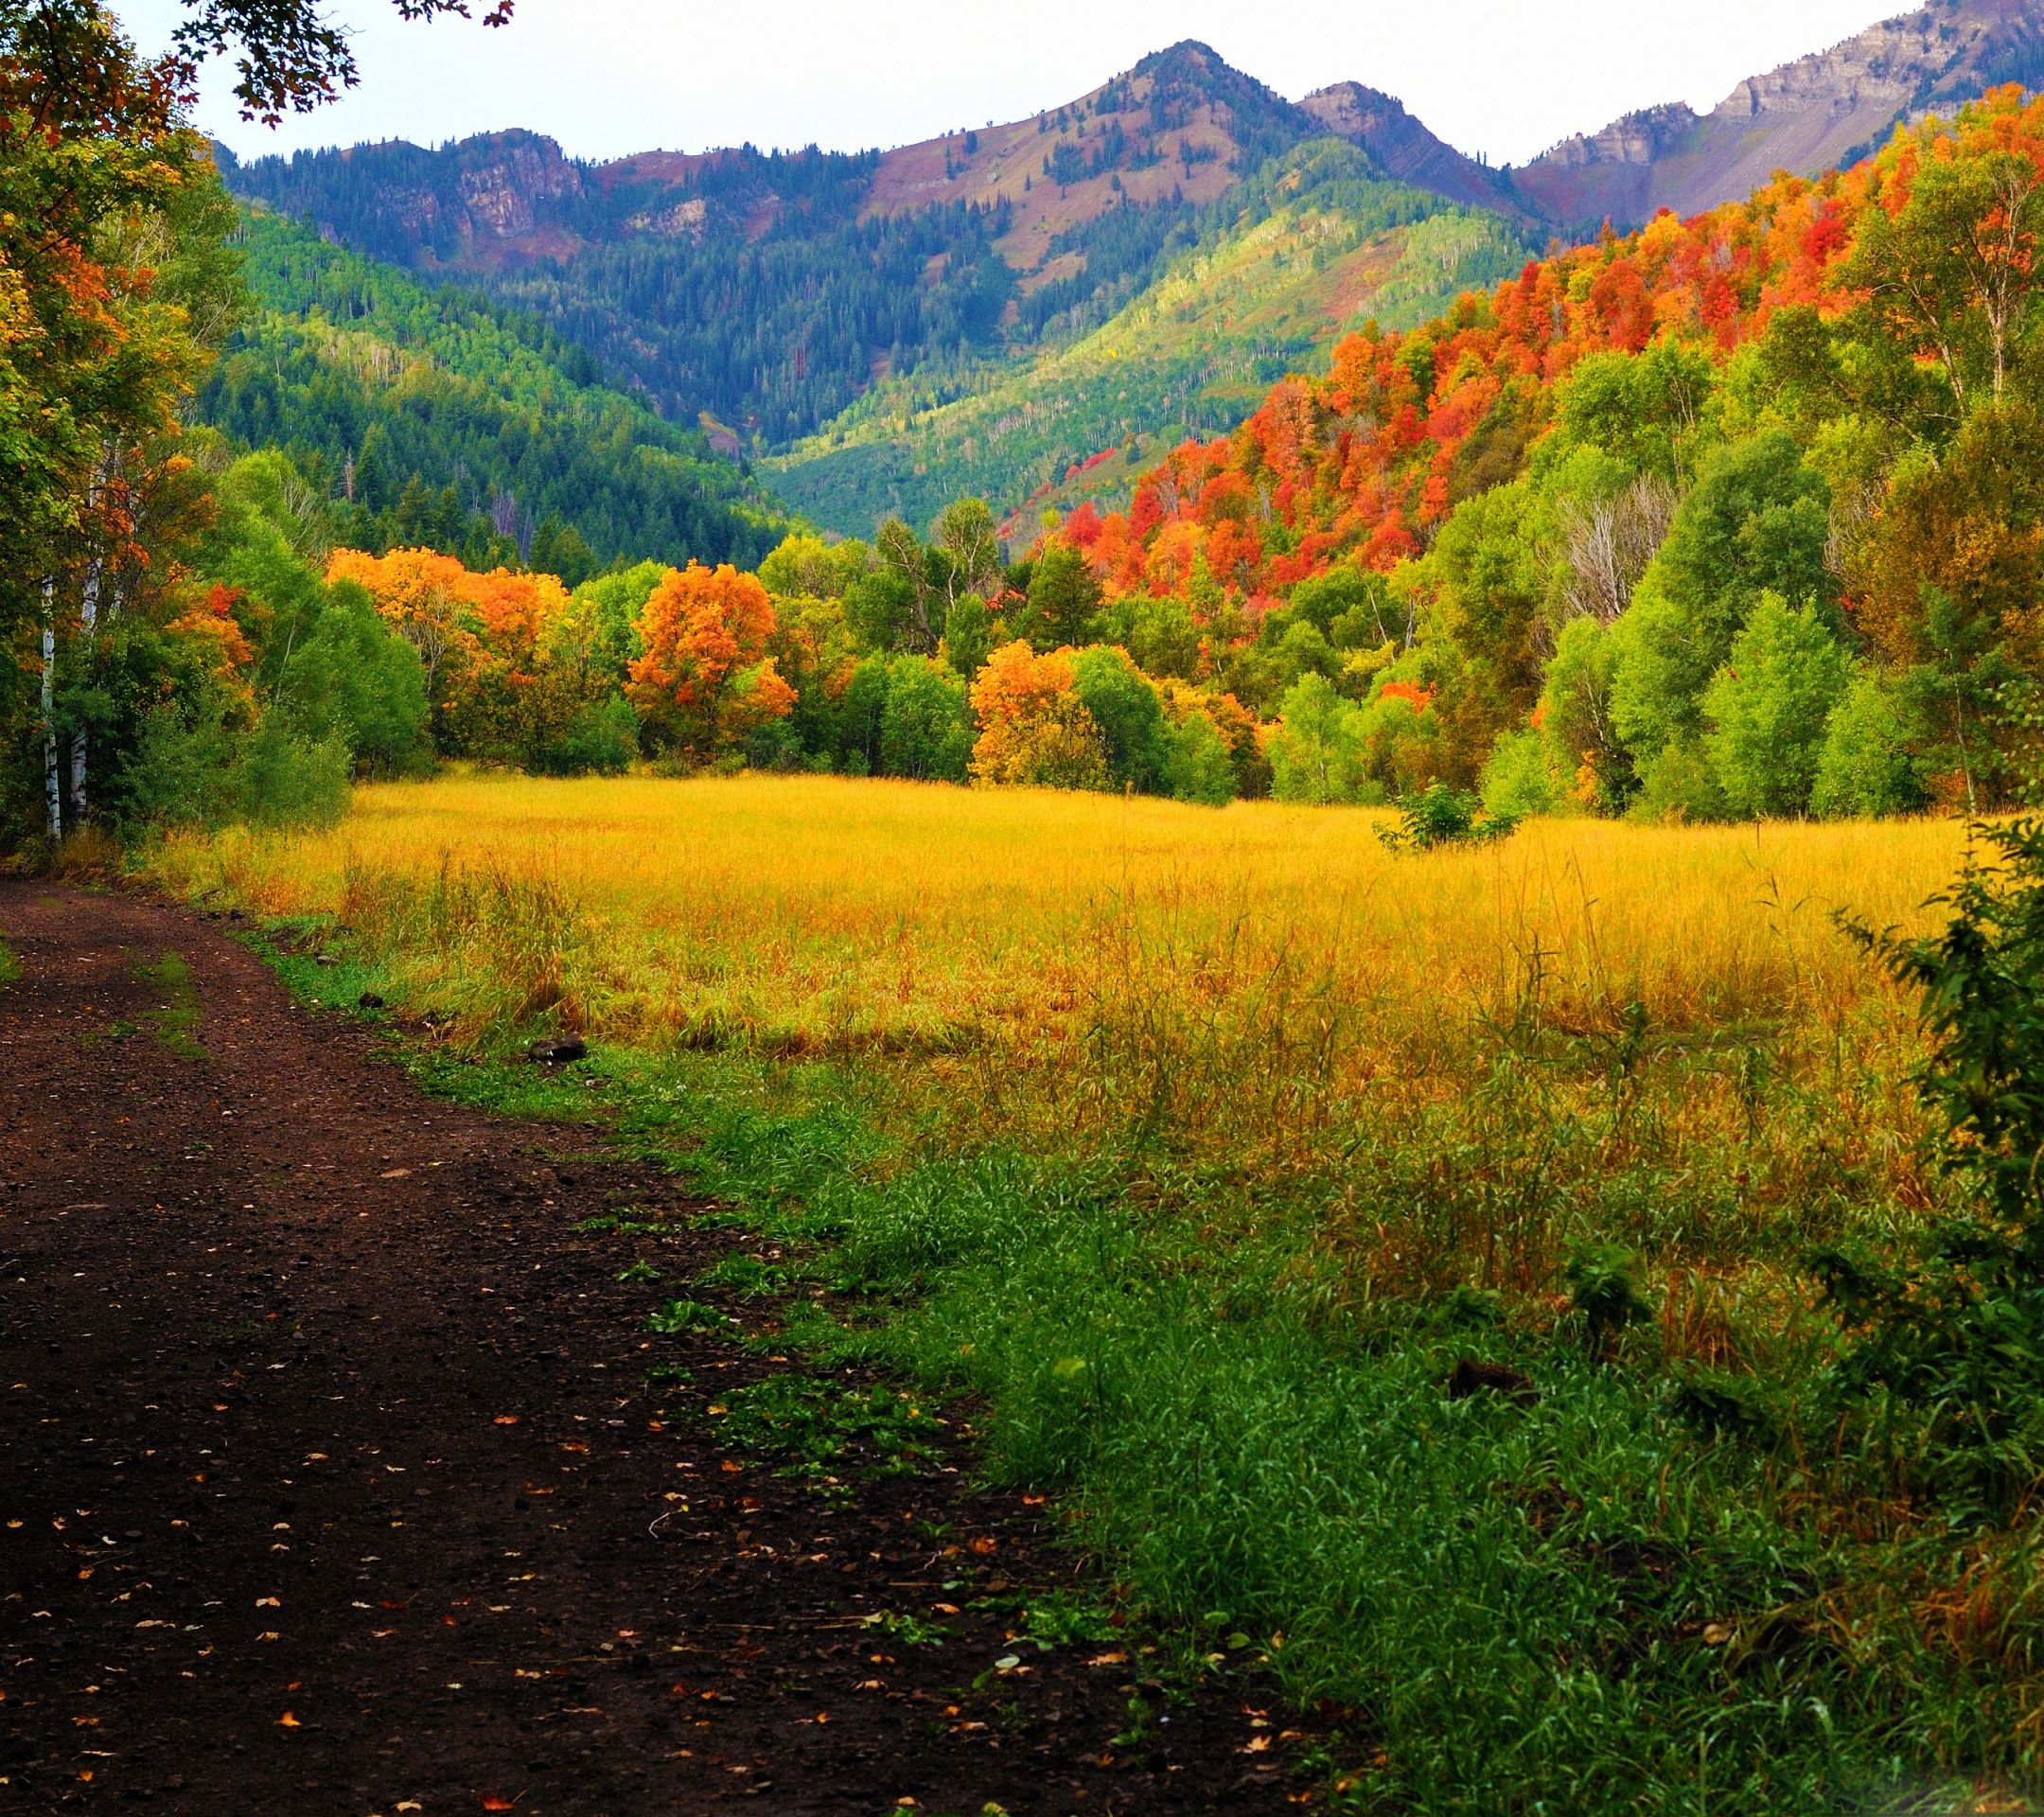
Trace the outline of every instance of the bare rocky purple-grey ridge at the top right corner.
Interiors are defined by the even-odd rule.
[[[1555,227],[1637,227],[1760,188],[1776,170],[1852,164],[1889,133],[2003,82],[2044,76],[2038,0],[1932,0],[1919,12],[1752,76],[1711,112],[1676,102],[1564,139],[1511,174],[1515,196]]]

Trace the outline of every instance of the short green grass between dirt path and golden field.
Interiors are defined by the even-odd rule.
[[[284,971],[335,991],[333,969]],[[764,1310],[811,1376],[719,1402],[728,1433],[828,1492],[889,1447],[914,1467],[903,1406],[969,1406],[987,1478],[1049,1492],[1181,1670],[1267,1668],[1333,1713],[1335,1809],[1956,1813],[2032,1786],[2030,1529],[1997,1551],[1897,1517],[1876,1455],[1825,1425],[1823,1326],[1731,1308],[1744,1398],[1727,1400],[1672,1347],[1676,1308],[1633,1318],[1623,1259],[1582,1241],[1717,1228],[1793,1257],[1907,1216],[1858,1204],[1850,1179],[1748,1216],[1748,1157],[1658,1149],[1658,1100],[1631,1071],[1584,1108],[1549,1075],[1594,1053],[1496,1040],[1468,1106],[1376,1128],[1282,1190],[1143,1147],[887,1136],[871,1079],[826,1063],[597,1049],[574,1071],[605,1087],[613,1140],[781,1253],[734,1255],[717,1288],[801,1290]],[[1680,1044],[1652,1061],[1674,1098],[1719,1063]],[[464,1102],[591,1114],[587,1083],[515,1061],[429,1049],[411,1065]],[[1752,1114],[1821,1149],[1838,1108],[1756,1077]],[[1357,1292],[1329,1232],[1392,1216],[1416,1245],[1466,1241],[1472,1216],[1502,1243],[1527,1220],[1574,1230],[1574,1292],[1596,1316],[1429,1290],[1423,1257],[1410,1282]],[[732,1320],[675,1300],[650,1329]],[[887,1406],[822,1386],[848,1363],[899,1384]],[[1455,1398],[1459,1365],[1525,1392]],[[1985,1609],[1970,1629],[1964,1609]]]

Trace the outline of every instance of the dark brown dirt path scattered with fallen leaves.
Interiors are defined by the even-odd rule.
[[[0,883],[0,1811],[1286,1807],[1275,1711],[1118,1741],[1139,1651],[971,1606],[1067,1572],[1020,1498],[654,1418],[654,1359],[775,1367],[648,1351],[572,1230],[672,1181],[427,1100],[215,924]]]

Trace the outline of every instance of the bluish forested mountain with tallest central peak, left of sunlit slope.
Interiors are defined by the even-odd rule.
[[[1173,225],[1318,131],[1186,43],[1053,112],[887,153],[589,166],[497,133],[223,170],[356,251],[546,315],[658,409],[773,446],[879,376],[1112,313]]]

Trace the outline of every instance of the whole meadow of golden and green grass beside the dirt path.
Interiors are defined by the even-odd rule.
[[[452,1051],[583,1030],[830,1290],[787,1341],[973,1404],[1186,1670],[1318,1709],[1337,1803],[1966,1811],[2036,1782],[2032,1523],[1909,1488],[1807,1265],[1954,1190],[1833,912],[1932,926],[1964,842],[452,777],[153,869]]]

